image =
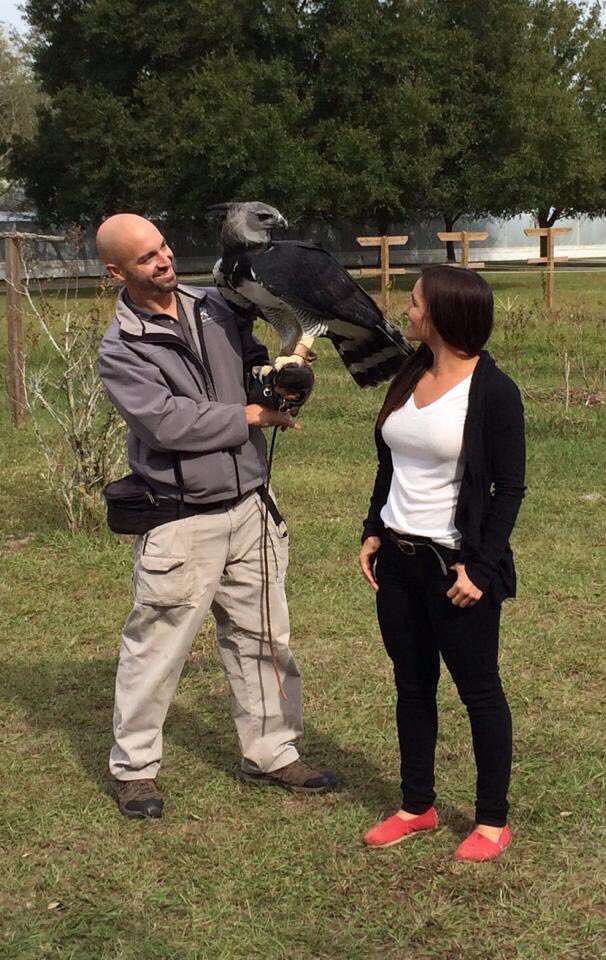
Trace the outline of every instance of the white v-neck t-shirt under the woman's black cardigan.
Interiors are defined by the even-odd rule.
[[[471,374],[421,408],[411,394],[383,424],[393,477],[381,519],[397,533],[430,537],[444,547],[456,548],[461,542],[454,517],[465,466],[463,427],[470,384]]]

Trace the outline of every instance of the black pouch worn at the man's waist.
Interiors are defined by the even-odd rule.
[[[162,523],[181,516],[180,503],[158,497],[136,473],[129,473],[103,488],[107,503],[107,525],[114,533],[147,533]]]

